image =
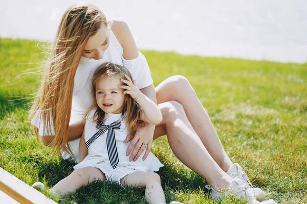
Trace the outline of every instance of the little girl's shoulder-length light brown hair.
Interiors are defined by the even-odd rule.
[[[132,81],[132,75],[129,72],[128,69],[126,69],[124,66],[113,64],[110,62],[106,62],[101,64],[93,75],[92,80],[92,97],[93,106],[91,107],[91,110],[96,108],[96,112],[94,114],[94,118],[96,118],[95,122],[98,121],[104,121],[105,112],[99,108],[96,102],[96,83],[98,80],[100,80],[101,77],[107,75],[110,78],[116,77],[118,79],[126,80],[125,75],[127,75]],[[97,116],[97,117],[96,117]],[[128,131],[134,135],[136,133],[137,127],[142,123],[140,120],[140,106],[136,102],[136,100],[131,97],[129,94],[125,94],[125,102],[122,107],[122,118],[126,119],[126,127]]]

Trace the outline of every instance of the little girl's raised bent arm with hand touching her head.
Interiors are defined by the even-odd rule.
[[[126,86],[119,86],[119,88],[126,89],[123,94],[129,94],[140,105],[142,109],[140,120],[150,124],[159,124],[162,121],[162,114],[158,106],[139,90],[136,86],[136,80],[132,82],[127,75],[125,77],[127,80],[121,80],[121,82],[125,83]]]

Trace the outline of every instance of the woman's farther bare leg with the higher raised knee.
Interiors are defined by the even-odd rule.
[[[156,92],[158,104],[175,100],[183,106],[184,112],[195,130],[196,135],[200,137],[214,161],[227,172],[232,162],[227,156],[206,110],[202,106],[189,81],[179,75],[173,76],[159,84],[156,87]],[[172,149],[178,148],[177,151],[179,151],[180,148],[177,147],[177,144],[182,143],[185,139],[186,138],[183,138],[182,134],[180,134],[180,137],[172,138],[170,140]],[[187,140],[189,140],[189,138],[187,138]],[[190,148],[189,151],[195,151],[195,149]],[[199,152],[196,151],[193,153],[195,155],[199,154]],[[185,157],[185,154],[183,154],[183,157]],[[203,160],[203,162],[207,161]]]

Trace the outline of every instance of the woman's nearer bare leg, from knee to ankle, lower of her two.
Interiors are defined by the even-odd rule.
[[[231,178],[216,164],[186,117],[183,107],[176,101],[159,104],[163,115],[154,138],[167,135],[177,158],[200,174],[217,191],[226,190]]]

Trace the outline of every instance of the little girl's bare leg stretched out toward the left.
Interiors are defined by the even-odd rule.
[[[93,182],[94,180],[105,180],[104,173],[95,167],[85,167],[74,170],[69,176],[59,181],[52,191],[60,195],[73,193],[82,186]]]

